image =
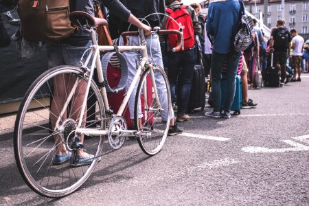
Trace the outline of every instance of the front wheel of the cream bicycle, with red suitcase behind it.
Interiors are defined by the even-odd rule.
[[[156,155],[168,135],[171,118],[171,96],[168,78],[161,67],[153,68],[158,98],[150,69],[141,75],[135,96],[135,129],[139,146],[147,155]]]

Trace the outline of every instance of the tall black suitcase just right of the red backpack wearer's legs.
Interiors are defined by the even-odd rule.
[[[201,51],[197,49],[197,52],[199,65],[194,66],[190,98],[187,103],[187,111],[190,113],[193,113],[195,108],[201,108],[201,111],[203,111],[206,103],[205,69],[201,59]]]

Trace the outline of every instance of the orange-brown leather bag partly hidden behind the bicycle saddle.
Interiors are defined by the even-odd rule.
[[[94,10],[95,10],[95,17],[104,19],[104,15],[102,13],[102,10],[100,8],[98,1],[96,1],[95,3]],[[108,28],[106,27],[106,25],[99,25],[97,27],[97,33],[98,33],[99,45],[102,45],[102,46],[113,45],[111,35],[109,34]]]

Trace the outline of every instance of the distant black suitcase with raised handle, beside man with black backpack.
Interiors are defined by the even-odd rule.
[[[279,69],[273,65],[273,53],[271,53],[271,61],[268,61],[264,72],[264,87],[279,87],[280,76]]]

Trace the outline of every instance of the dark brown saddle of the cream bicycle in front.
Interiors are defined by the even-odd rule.
[[[105,19],[96,18],[91,16],[86,12],[71,12],[70,14],[71,23],[74,25],[89,25],[90,27],[97,27],[98,25],[107,25],[107,21]]]

